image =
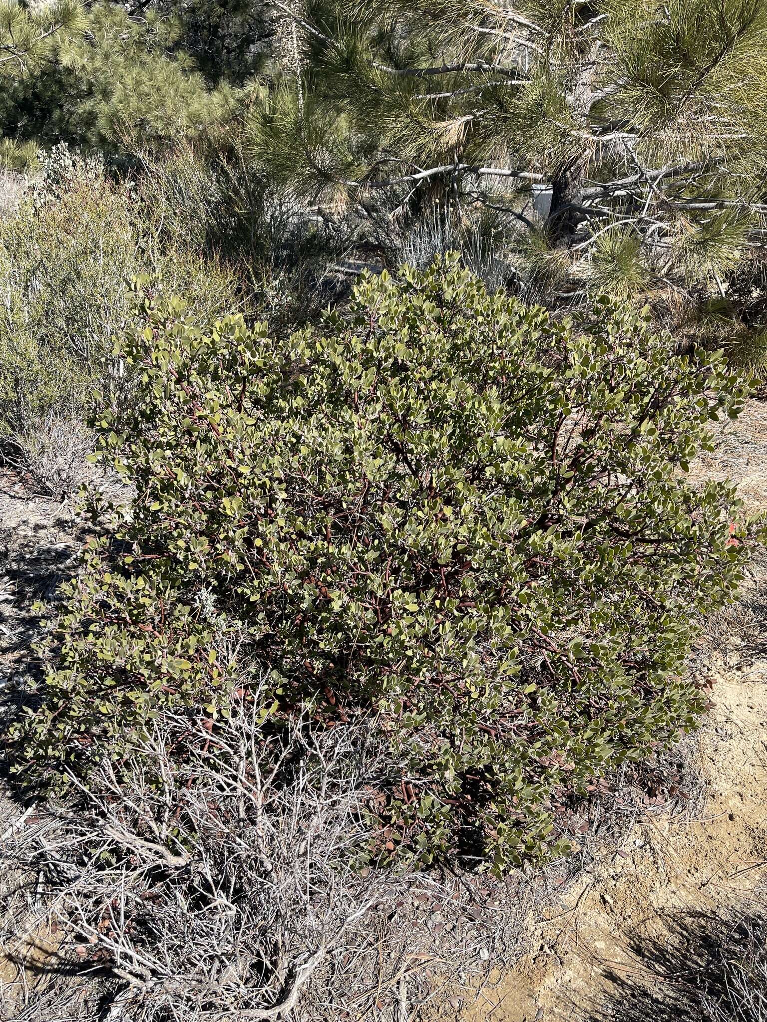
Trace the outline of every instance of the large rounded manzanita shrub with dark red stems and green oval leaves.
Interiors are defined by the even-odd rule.
[[[561,850],[565,800],[705,708],[684,660],[755,531],[685,479],[743,387],[671,353],[632,311],[553,320],[451,258],[363,276],[287,342],[143,297],[138,400],[98,423],[135,497],[93,500],[19,765],[87,774],[169,704],[215,728],[245,650],[270,727],[378,715],[390,849]]]

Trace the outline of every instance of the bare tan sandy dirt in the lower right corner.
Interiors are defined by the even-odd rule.
[[[619,852],[584,876],[566,908],[535,924],[532,949],[492,977],[462,1017],[471,1022],[589,1019],[610,1002],[614,976],[653,983],[637,947],[665,941],[693,910],[740,901],[767,860],[767,663],[748,681],[722,673],[701,742],[708,786],[700,819],[648,819]]]

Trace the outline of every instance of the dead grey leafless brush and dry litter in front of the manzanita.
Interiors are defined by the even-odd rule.
[[[6,829],[18,1017],[64,989],[94,1017],[90,977],[110,1019],[398,1022],[518,951],[538,889],[522,874],[360,866],[393,768],[371,724],[268,737],[257,705],[215,729],[161,714],[89,791]]]

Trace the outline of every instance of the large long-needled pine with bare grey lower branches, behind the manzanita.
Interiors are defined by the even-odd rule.
[[[559,300],[721,303],[761,244],[767,0],[277,6],[306,59],[254,150],[307,196],[492,208]]]

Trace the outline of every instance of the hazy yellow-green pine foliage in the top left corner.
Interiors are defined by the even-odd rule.
[[[94,3],[83,14],[73,0],[39,15],[12,9],[6,35],[16,40],[8,60],[15,73],[0,90],[0,155],[6,162],[30,145],[60,141],[145,153],[214,131],[237,108],[236,90],[212,84],[184,48],[183,20],[157,5],[133,15],[112,2]],[[78,17],[58,31],[46,28],[56,11],[69,10]],[[37,47],[27,43],[38,37]]]

